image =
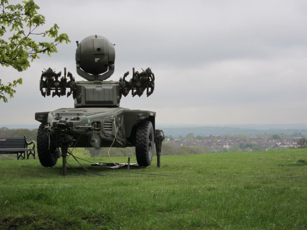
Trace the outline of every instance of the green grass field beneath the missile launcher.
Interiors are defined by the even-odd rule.
[[[307,229],[305,149],[155,161],[130,172],[82,161],[99,176],[69,157],[87,175],[61,176],[61,159],[2,160],[0,229]]]

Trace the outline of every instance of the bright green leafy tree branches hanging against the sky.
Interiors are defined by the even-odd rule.
[[[58,25],[54,24],[49,30],[37,32],[37,28],[45,24],[45,17],[37,13],[39,6],[33,0],[23,1],[22,4],[10,5],[8,0],[1,0],[0,12],[0,63],[5,67],[13,67],[21,72],[30,67],[30,61],[40,58],[40,53],[56,53],[56,46],[68,43],[66,33],[59,34]],[[9,32],[8,32],[9,31]],[[8,32],[7,36],[6,33]],[[47,38],[47,37],[49,38]],[[37,42],[35,38],[46,41]],[[47,40],[52,40],[47,42]],[[30,61],[29,61],[30,60]],[[15,93],[14,87],[22,84],[22,79],[14,80],[7,85],[0,79],[0,100],[7,102],[5,94],[10,98]]]

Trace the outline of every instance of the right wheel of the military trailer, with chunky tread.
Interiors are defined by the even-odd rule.
[[[150,166],[153,159],[153,125],[150,121],[138,124],[135,137],[135,156],[139,166]]]

